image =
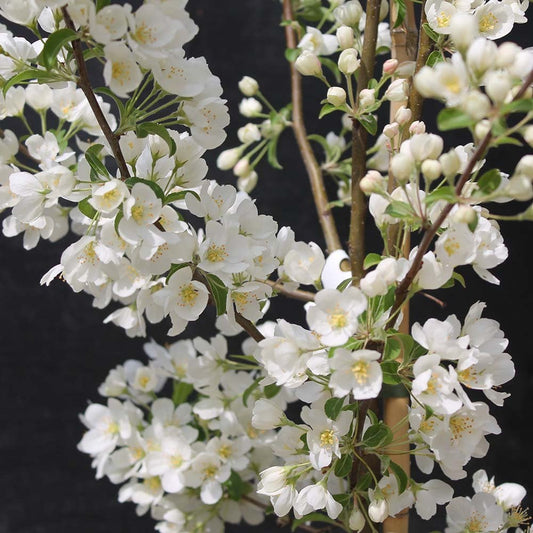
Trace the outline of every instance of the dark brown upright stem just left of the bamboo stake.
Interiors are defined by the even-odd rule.
[[[381,0],[368,0],[366,4],[363,50],[357,75],[357,103],[359,103],[359,92],[361,89],[366,89],[368,82],[374,75],[380,5]],[[359,182],[366,173],[366,146],[367,131],[360,122],[354,120],[352,126],[352,206],[350,212],[349,251],[355,284],[359,284],[364,275],[367,202],[363,191],[359,187]]]

